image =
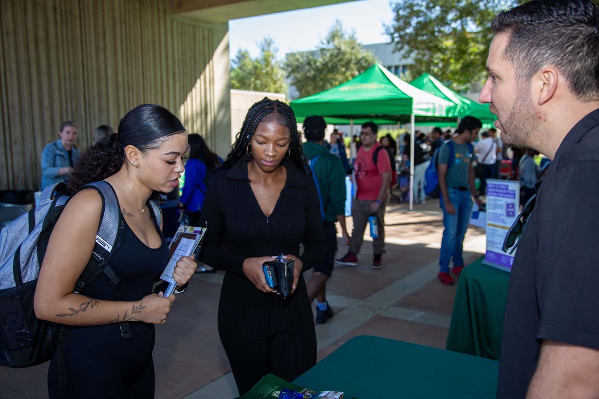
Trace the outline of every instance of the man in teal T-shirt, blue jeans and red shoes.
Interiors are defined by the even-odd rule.
[[[445,227],[437,278],[446,285],[453,284],[453,278],[449,275],[450,260],[453,259],[454,275],[459,275],[464,269],[462,246],[470,221],[471,197],[474,197],[477,205],[482,205],[474,185],[472,163],[476,160],[476,154],[471,144],[481,127],[482,123],[477,118],[464,117],[458,125],[456,135],[441,145],[433,159],[433,162],[438,162],[438,186]]]

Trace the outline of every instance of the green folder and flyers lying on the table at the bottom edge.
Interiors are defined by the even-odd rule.
[[[311,391],[287,382],[273,374],[267,374],[245,394],[237,399],[343,399],[339,391]],[[351,399],[358,399],[352,397]]]

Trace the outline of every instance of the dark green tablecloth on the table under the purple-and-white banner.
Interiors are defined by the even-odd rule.
[[[499,360],[510,274],[483,259],[464,267],[459,277],[446,348]]]

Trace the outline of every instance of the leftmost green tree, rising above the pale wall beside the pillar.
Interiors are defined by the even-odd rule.
[[[231,87],[256,92],[287,93],[285,74],[277,60],[279,49],[270,37],[258,44],[260,54],[252,59],[247,50],[239,50],[231,61]]]

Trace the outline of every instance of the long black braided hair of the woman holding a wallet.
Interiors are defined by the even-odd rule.
[[[299,140],[298,125],[293,109],[284,102],[271,100],[267,97],[256,102],[247,111],[241,131],[237,133],[235,143],[231,146],[231,152],[219,169],[231,169],[240,159],[247,158],[247,145],[250,144],[258,124],[262,121],[270,122],[273,120],[276,120],[282,126],[286,126],[291,133],[289,160],[301,172],[310,174],[310,166],[305,162],[304,151]]]

